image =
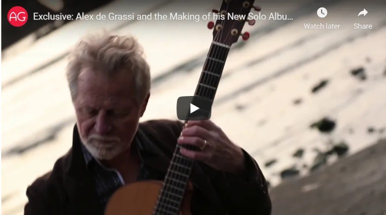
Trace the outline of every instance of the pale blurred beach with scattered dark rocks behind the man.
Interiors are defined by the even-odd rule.
[[[88,14],[202,16],[221,1],[186,4],[113,1]],[[251,36],[231,48],[211,120],[258,162],[273,215],[386,214],[385,2],[369,1],[369,14],[359,18],[363,2],[324,1],[323,22],[339,30],[304,29],[320,23],[316,0],[256,4],[260,13],[291,19],[245,26]],[[373,28],[354,29],[356,22]],[[152,89],[142,121],[177,119],[177,98],[194,93],[213,39],[203,20],[79,20],[2,50],[2,214],[23,214],[27,186],[71,147],[66,55],[81,36],[101,29],[143,45]]]

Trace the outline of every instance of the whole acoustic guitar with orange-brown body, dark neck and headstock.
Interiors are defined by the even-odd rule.
[[[205,99],[211,104],[224,69],[231,45],[249,38],[249,33],[241,33],[247,22],[253,25],[255,20],[248,20],[254,0],[223,0],[220,10],[213,10],[216,23],[209,22],[213,29],[213,41],[202,70],[195,97]],[[192,103],[195,103],[194,101]],[[187,113],[189,114],[189,113]],[[208,113],[210,114],[210,113]],[[187,123],[187,120],[185,121]],[[176,146],[167,169],[164,181],[141,181],[122,186],[110,198],[106,206],[106,215],[188,215],[193,186],[189,182],[194,161],[182,156],[181,146]],[[194,146],[183,146],[199,150]]]

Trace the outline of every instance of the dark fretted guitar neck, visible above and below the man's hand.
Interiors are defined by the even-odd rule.
[[[229,50],[229,45],[212,42],[197,84],[195,97],[200,96],[213,103]],[[197,150],[193,146],[185,146],[185,148]],[[179,149],[180,146],[177,146],[174,151],[153,214],[164,214],[165,212],[178,214],[194,163],[193,160],[181,155]]]

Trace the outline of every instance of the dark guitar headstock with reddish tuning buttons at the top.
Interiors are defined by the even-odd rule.
[[[242,33],[244,24],[254,25],[255,20],[248,20],[251,9],[260,11],[260,7],[253,6],[255,0],[223,0],[220,10],[213,10],[216,23],[209,22],[208,28],[213,29],[213,40],[226,45],[236,43],[241,36],[243,40],[249,38],[249,33]]]

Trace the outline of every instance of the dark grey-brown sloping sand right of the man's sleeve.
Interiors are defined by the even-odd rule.
[[[386,214],[386,140],[270,190],[273,215]]]

